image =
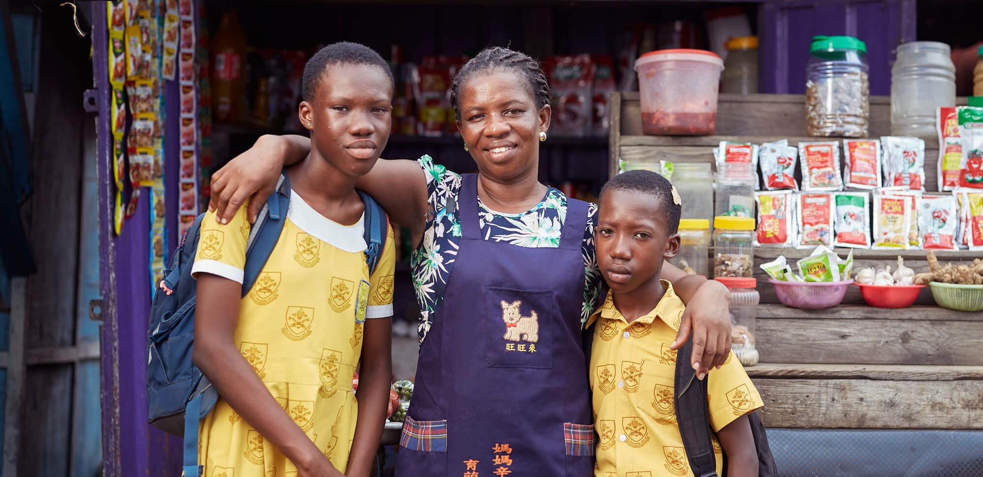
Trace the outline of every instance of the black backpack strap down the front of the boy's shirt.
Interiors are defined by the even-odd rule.
[[[689,468],[696,477],[718,477],[717,458],[710,435],[710,413],[707,409],[707,379],[696,379],[696,370],[689,366],[693,339],[686,341],[676,354],[675,414],[682,446],[686,449]]]

